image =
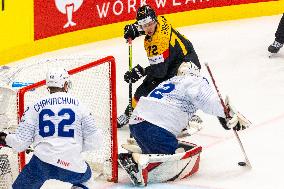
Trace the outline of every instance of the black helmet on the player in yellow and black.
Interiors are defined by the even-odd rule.
[[[152,20],[157,21],[157,16],[155,11],[149,5],[143,5],[142,7],[139,7],[137,11],[136,20],[139,25],[143,25]]]

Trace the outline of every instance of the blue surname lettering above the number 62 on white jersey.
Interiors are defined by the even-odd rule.
[[[34,109],[36,112],[39,112],[46,105],[57,105],[57,104],[73,104],[75,106],[79,105],[79,101],[74,98],[69,97],[57,97],[57,98],[48,98],[44,99],[34,105]]]

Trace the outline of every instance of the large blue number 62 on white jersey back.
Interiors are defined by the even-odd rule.
[[[70,108],[61,109],[57,116],[62,117],[65,114],[69,115],[68,119],[62,119],[58,125],[55,125],[51,120],[44,120],[44,116],[55,116],[55,113],[50,109],[43,109],[39,114],[39,135],[42,137],[49,137],[55,134],[58,130],[59,137],[74,137],[74,129],[68,129],[75,121],[75,113]]]

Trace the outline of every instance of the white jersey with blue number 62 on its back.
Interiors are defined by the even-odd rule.
[[[40,160],[84,173],[87,165],[81,152],[102,146],[103,137],[77,98],[57,92],[28,106],[16,133],[9,134],[6,142],[18,152],[33,143],[34,155]]]

